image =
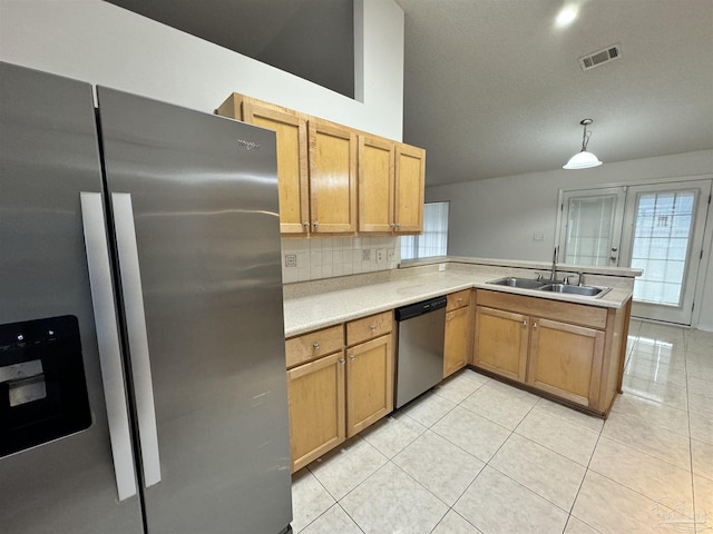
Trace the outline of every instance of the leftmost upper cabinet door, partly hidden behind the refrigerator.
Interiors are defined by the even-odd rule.
[[[310,194],[306,120],[297,113],[271,109],[248,99],[243,101],[243,120],[277,134],[280,231],[307,234]]]

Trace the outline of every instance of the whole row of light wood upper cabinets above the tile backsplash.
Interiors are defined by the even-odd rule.
[[[423,149],[236,92],[216,113],[276,132],[283,235],[423,230]]]

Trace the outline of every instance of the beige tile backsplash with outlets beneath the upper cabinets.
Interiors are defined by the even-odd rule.
[[[282,239],[285,284],[395,269],[400,260],[399,237]]]

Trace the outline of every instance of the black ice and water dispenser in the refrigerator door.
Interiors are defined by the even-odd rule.
[[[77,318],[0,325],[0,457],[90,424]]]

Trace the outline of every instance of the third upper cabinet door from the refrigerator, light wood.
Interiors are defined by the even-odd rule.
[[[359,136],[359,231],[394,227],[394,144]]]

